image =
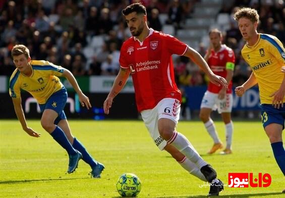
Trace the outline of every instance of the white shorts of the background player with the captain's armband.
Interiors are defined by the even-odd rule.
[[[218,110],[219,113],[232,112],[233,94],[225,94],[222,100],[218,99],[218,94],[206,91],[200,108]]]

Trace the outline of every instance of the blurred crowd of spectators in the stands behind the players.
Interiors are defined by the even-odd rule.
[[[24,44],[32,59],[48,60],[69,69],[75,76],[116,75],[120,69],[122,43],[131,35],[121,14],[134,2],[147,8],[149,27],[161,31],[171,24],[183,29],[195,4],[201,0],[14,0],[0,1],[0,75],[11,75],[15,67],[11,49]],[[252,7],[260,14],[259,32],[277,36],[285,43],[285,5],[283,0],[222,0],[220,14],[231,19],[223,30],[224,43],[236,52],[234,84],[244,82],[249,67],[240,57],[244,41],[233,13]],[[164,14],[165,21],[159,15]],[[174,35],[176,36],[176,35]],[[200,44],[203,56],[207,46]],[[207,79],[188,58],[174,58],[177,83],[205,85]]]

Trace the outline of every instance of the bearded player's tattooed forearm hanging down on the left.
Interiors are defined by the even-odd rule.
[[[119,74],[117,75],[113,86],[104,101],[104,112],[105,114],[109,114],[109,108],[112,106],[113,99],[120,93],[120,91],[124,88],[128,78],[130,76],[130,70],[121,68]]]

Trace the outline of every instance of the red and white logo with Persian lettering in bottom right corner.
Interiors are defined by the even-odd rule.
[[[229,187],[268,187],[271,184],[271,176],[268,173],[258,173],[254,178],[253,173],[229,173]]]

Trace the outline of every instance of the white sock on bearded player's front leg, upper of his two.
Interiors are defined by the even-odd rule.
[[[194,162],[199,169],[208,164],[201,158],[187,138],[177,131],[174,132],[173,136],[167,141],[167,143],[177,148],[191,162]]]

